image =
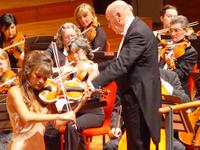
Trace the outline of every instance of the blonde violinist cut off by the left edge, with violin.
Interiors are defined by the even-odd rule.
[[[0,94],[7,94],[8,90],[16,85],[17,78],[11,70],[8,54],[0,50]]]

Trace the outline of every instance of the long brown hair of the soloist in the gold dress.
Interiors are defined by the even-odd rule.
[[[24,96],[24,101],[28,108],[31,106],[35,111],[40,112],[42,106],[37,101],[34,89],[29,83],[28,75],[33,71],[40,71],[44,77],[50,77],[52,75],[52,59],[45,51],[34,50],[25,56],[22,71],[19,75],[19,86]]]

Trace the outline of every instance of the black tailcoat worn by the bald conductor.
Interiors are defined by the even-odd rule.
[[[151,29],[136,17],[125,35],[119,57],[99,68],[102,66],[107,67],[92,81],[93,85],[103,87],[115,80],[120,95],[132,90],[136,99],[130,101],[138,101],[153,141],[158,143],[161,86],[157,42]]]

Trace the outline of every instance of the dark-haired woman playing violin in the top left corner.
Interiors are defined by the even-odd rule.
[[[24,36],[17,31],[17,20],[11,13],[0,17],[0,48],[8,53],[12,68],[22,67],[24,59]]]

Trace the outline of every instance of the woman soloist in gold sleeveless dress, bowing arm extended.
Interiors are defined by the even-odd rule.
[[[7,110],[13,128],[9,150],[45,150],[43,134],[45,124],[55,126],[74,121],[74,112],[50,114],[49,105],[38,93],[52,75],[52,60],[46,52],[29,53],[20,72],[19,85],[8,92]]]

